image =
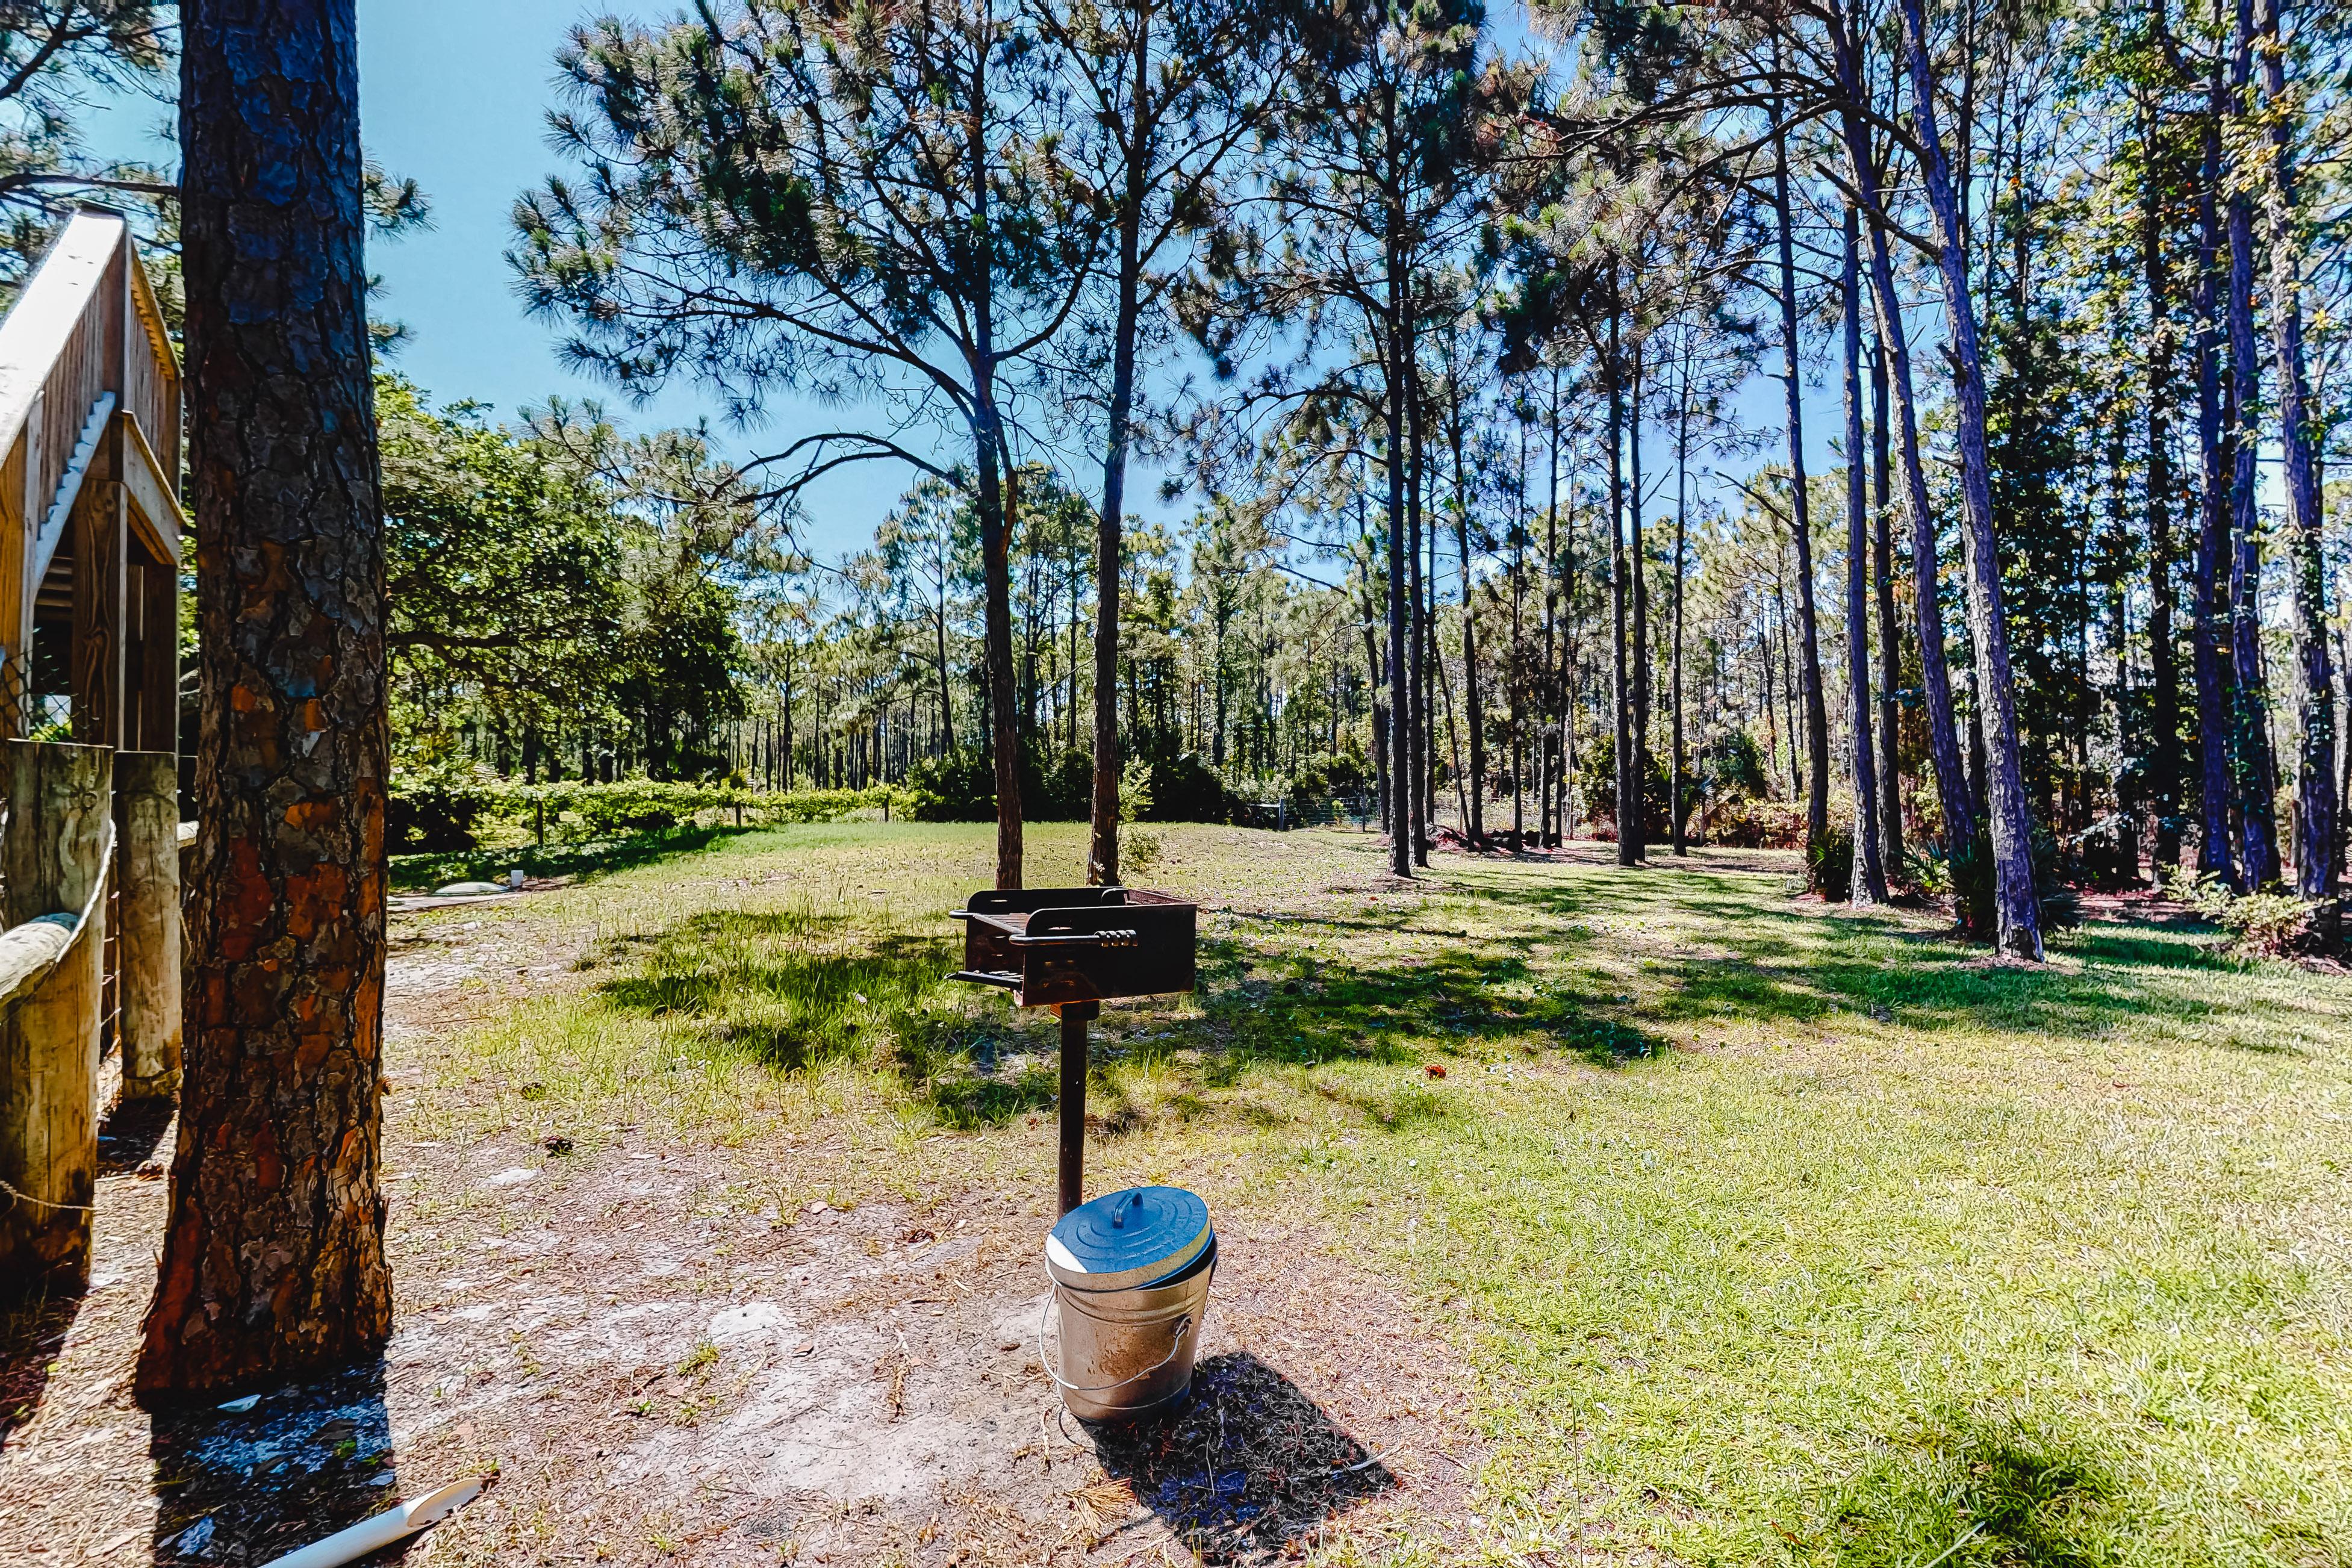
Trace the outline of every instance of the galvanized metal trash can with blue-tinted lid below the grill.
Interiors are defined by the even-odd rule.
[[[1136,1420],[1183,1399],[1216,1279],[1216,1229],[1200,1194],[1127,1187],[1080,1204],[1047,1237],[1044,1269],[1061,1345],[1058,1354],[1040,1345],[1040,1361],[1070,1415]]]

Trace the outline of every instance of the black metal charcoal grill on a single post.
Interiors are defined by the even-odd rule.
[[[1105,1001],[1192,990],[1200,910],[1150,889],[988,889],[953,912],[964,966],[950,976],[1061,1016],[1061,1213],[1082,1201],[1087,1025]]]

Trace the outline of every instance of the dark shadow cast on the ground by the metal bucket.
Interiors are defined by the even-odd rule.
[[[1202,1561],[1296,1556],[1338,1512],[1397,1486],[1378,1458],[1249,1352],[1209,1356],[1183,1403],[1096,1427],[1096,1458]]]

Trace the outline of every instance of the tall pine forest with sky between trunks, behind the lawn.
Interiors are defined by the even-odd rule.
[[[743,470],[788,529],[917,470],[729,578],[713,766],[1802,839],[2020,954],[2060,863],[2333,893],[2340,14],[927,16],[583,28],[517,205],[581,362],[837,409]]]

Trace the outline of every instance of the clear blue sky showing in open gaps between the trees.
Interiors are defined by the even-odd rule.
[[[673,383],[635,409],[597,381],[567,369],[560,329],[524,315],[515,296],[508,247],[513,200],[562,172],[546,143],[546,108],[555,99],[555,49],[564,31],[609,7],[583,0],[360,0],[360,115],[372,158],[416,179],[433,202],[433,228],[369,252],[383,277],[379,308],[414,331],[395,367],[437,402],[470,397],[501,418],[548,395],[600,397],[635,428],[689,425],[710,418],[722,451],[746,456],[762,442],[783,444],[811,411],[783,404],[764,430],[717,425],[717,402],[691,383]],[[666,14],[661,7],[628,7]],[[92,125],[96,148],[176,162],[169,110],[139,101],[115,106]],[[1740,400],[1750,421],[1778,425],[1778,386],[1752,383]],[[1839,430],[1835,390],[1809,395],[1809,465],[1830,465]],[[830,416],[840,423],[840,414]],[[1651,435],[1649,463],[1663,473],[1665,442]],[[1098,473],[1073,475],[1084,489]],[[910,475],[891,463],[842,470],[809,498],[804,543],[837,557],[873,538]],[[1155,475],[1129,480],[1129,505],[1150,517],[1190,510],[1157,501]],[[1653,503],[1656,508],[1658,503]]]

